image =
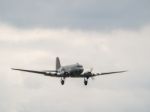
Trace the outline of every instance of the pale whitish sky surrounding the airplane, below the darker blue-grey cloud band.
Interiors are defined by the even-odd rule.
[[[149,112],[150,27],[93,31],[0,27],[0,111]],[[80,62],[93,72],[128,69],[124,74],[89,80],[60,79],[11,71],[11,67],[53,69]]]

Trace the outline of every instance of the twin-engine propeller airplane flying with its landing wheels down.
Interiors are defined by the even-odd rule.
[[[59,57],[56,57],[56,70],[45,70],[45,71],[35,71],[35,70],[25,70],[25,69],[16,69],[11,68],[12,70],[18,70],[23,72],[43,74],[45,76],[58,77],[60,78],[61,85],[64,85],[66,78],[84,78],[84,85],[88,84],[88,79],[100,75],[123,73],[126,71],[114,71],[106,73],[92,73],[92,69],[87,72],[83,72],[84,68],[81,64],[76,63],[67,66],[61,66]]]

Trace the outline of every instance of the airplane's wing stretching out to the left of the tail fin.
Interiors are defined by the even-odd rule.
[[[35,70],[25,70],[25,69],[16,69],[16,68],[11,68],[11,69],[23,71],[23,72],[37,73],[37,74],[43,74],[43,75],[47,75],[47,76],[56,76],[57,77],[56,73],[52,73],[52,72],[56,72],[55,70],[35,71]]]

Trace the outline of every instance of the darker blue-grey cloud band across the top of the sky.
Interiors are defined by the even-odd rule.
[[[140,28],[150,23],[149,0],[0,0],[0,21],[19,27]]]

